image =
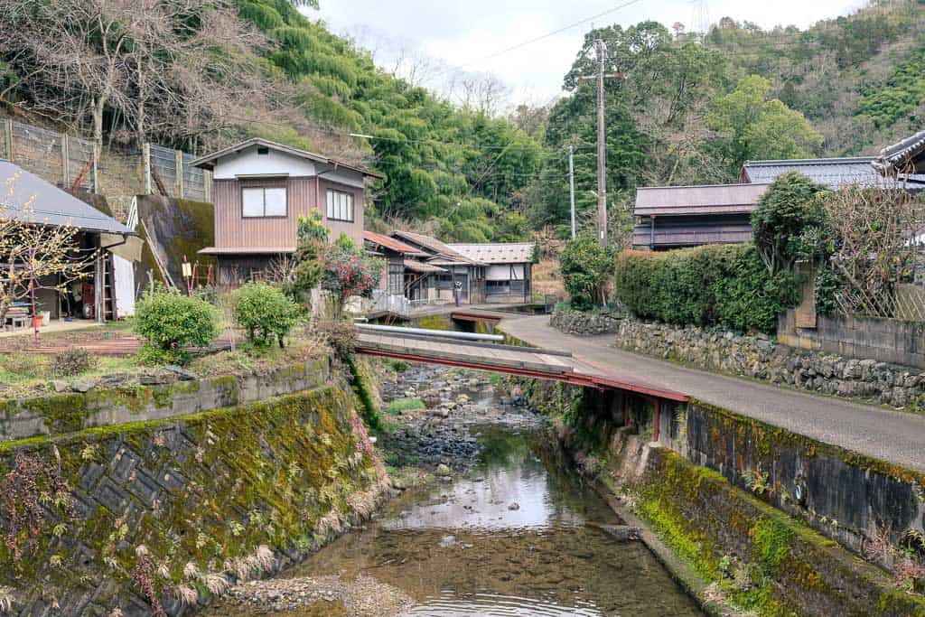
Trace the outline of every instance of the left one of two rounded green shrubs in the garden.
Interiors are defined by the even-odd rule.
[[[151,348],[162,352],[154,354],[158,362],[185,364],[190,359],[187,345],[205,347],[216,338],[216,309],[199,298],[157,290],[135,305],[134,328]]]

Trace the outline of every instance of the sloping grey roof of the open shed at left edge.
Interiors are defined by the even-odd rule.
[[[55,227],[138,235],[90,204],[22,167],[0,159],[0,216]]]

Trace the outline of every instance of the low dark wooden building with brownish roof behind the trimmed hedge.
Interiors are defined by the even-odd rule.
[[[767,184],[640,187],[633,247],[660,251],[751,241],[751,214],[767,188]]]

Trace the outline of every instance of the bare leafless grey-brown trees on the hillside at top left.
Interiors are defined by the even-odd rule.
[[[0,0],[0,55],[30,105],[89,121],[97,144],[117,122],[139,142],[202,142],[288,105],[254,55],[265,44],[232,0]]]

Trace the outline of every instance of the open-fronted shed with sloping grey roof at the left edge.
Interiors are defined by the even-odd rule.
[[[36,296],[42,313],[51,319],[94,319],[103,322],[130,315],[134,307],[134,273],[130,264],[141,261],[142,241],[132,229],[92,205],[62,191],[22,167],[0,159],[0,216],[25,223],[77,229],[75,241],[85,254],[98,253],[86,278],[65,285],[55,277],[39,278]],[[117,268],[117,260],[128,263]],[[119,278],[117,280],[117,278]],[[117,290],[129,290],[129,297]],[[7,324],[18,325],[26,315],[23,305],[7,313]]]

